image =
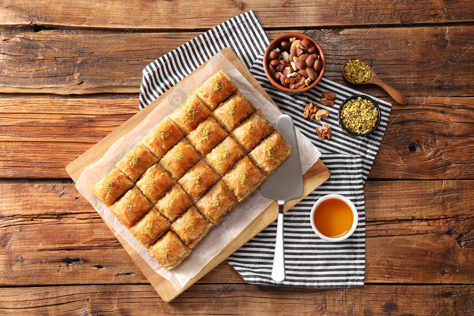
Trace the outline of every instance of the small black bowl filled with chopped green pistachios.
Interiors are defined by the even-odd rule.
[[[374,99],[356,94],[342,102],[338,120],[346,134],[356,137],[367,136],[380,124],[380,107]]]

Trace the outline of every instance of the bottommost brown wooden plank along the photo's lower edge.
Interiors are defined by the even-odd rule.
[[[195,284],[172,303],[149,285],[1,289],[2,315],[472,315],[471,285],[294,289]]]

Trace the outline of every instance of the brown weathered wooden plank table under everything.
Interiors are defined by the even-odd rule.
[[[473,315],[474,1],[0,0],[1,315]],[[253,9],[326,77],[357,56],[393,105],[365,184],[364,287],[246,284],[223,262],[164,303],[65,166],[138,107],[146,64]],[[358,87],[394,101],[375,86]]]

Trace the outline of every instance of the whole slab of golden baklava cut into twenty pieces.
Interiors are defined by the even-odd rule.
[[[173,269],[290,153],[283,135],[219,71],[91,190]]]

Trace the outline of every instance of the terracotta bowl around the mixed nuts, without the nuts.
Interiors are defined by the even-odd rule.
[[[304,39],[304,38],[308,38],[311,43],[313,43],[314,46],[316,46],[316,48],[318,49],[319,51],[319,60],[322,62],[322,66],[321,66],[321,70],[319,71],[319,76],[318,78],[316,78],[315,81],[313,81],[308,87],[305,87],[303,89],[290,89],[290,88],[285,88],[283,87],[279,82],[276,82],[273,77],[270,75],[270,72],[268,71],[268,55],[270,54],[270,52],[275,49],[276,47],[278,47],[280,45],[280,42],[281,41],[290,41],[290,38],[292,37],[296,37],[296,39]],[[270,42],[270,44],[267,46],[267,48],[265,49],[265,54],[264,54],[264,70],[265,70],[265,74],[268,78],[268,80],[270,81],[270,83],[273,85],[273,87],[275,87],[276,90],[280,91],[280,92],[283,92],[285,94],[288,94],[288,95],[299,95],[301,93],[304,93],[312,88],[314,88],[318,83],[319,81],[321,81],[321,78],[323,77],[324,75],[324,71],[326,70],[326,58],[324,57],[324,52],[321,48],[321,46],[319,46],[318,42],[316,42],[313,38],[311,38],[310,36],[307,36],[307,35],[304,35],[304,34],[301,34],[301,33],[286,33],[286,34],[283,34],[283,35],[280,35],[278,37],[276,37],[273,41]]]

